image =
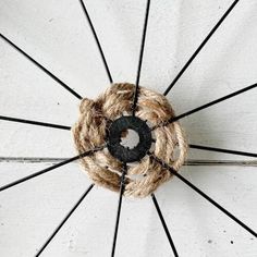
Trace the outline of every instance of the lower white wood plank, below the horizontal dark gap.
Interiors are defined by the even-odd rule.
[[[1,163],[1,184],[49,164]],[[256,230],[255,168],[187,167],[182,174]],[[2,192],[0,255],[33,256],[88,185],[74,163]],[[181,256],[255,256],[256,238],[182,182],[174,179],[156,196]],[[42,256],[108,256],[117,204],[118,194],[94,188]],[[172,256],[150,198],[124,200],[117,250]]]

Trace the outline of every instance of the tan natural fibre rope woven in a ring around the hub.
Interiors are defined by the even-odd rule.
[[[78,154],[106,144],[106,131],[110,121],[132,111],[133,84],[113,84],[95,101],[84,98],[79,107],[79,119],[73,127],[73,136]],[[174,117],[174,111],[164,96],[139,87],[136,117],[147,120],[151,126]],[[187,144],[179,122],[158,127],[152,132],[156,138],[155,156],[179,170],[186,158]],[[81,159],[89,178],[97,185],[119,192],[122,163],[108,149],[99,150]],[[145,197],[170,180],[172,174],[149,156],[138,163],[127,164],[125,196]]]

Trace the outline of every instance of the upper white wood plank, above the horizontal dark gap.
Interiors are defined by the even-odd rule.
[[[230,3],[229,0],[152,3],[142,85],[163,91]],[[114,81],[134,82],[144,2],[87,4]],[[169,99],[178,114],[256,82],[255,9],[255,1],[238,3],[172,89]],[[76,1],[1,1],[0,12],[1,32],[78,93],[95,97],[107,87],[99,53]],[[2,40],[0,57],[1,113],[68,125],[76,120],[78,101],[72,95]],[[189,142],[256,152],[256,94],[246,93],[184,119]],[[64,137],[64,132],[59,137],[50,130],[28,131],[24,125],[5,123],[0,123],[1,156],[72,154],[70,135]],[[37,135],[47,139],[24,144]],[[194,151],[192,158],[240,157]]]

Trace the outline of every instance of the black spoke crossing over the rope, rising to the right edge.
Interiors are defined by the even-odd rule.
[[[155,130],[156,127],[164,126],[164,125],[168,125],[168,124],[170,124],[170,123],[172,123],[172,122],[179,121],[179,120],[182,119],[182,118],[188,117],[188,115],[191,115],[191,114],[193,114],[193,113],[195,113],[195,112],[201,111],[201,110],[204,110],[204,109],[206,109],[206,108],[209,108],[209,107],[211,107],[211,106],[215,106],[215,105],[217,105],[217,103],[219,103],[219,102],[221,102],[221,101],[228,100],[228,99],[230,99],[230,98],[232,98],[232,97],[235,97],[235,96],[237,96],[237,95],[240,95],[240,94],[243,94],[243,93],[245,93],[245,91],[248,91],[248,90],[250,90],[250,89],[254,89],[255,87],[257,87],[257,83],[256,83],[256,84],[253,84],[253,85],[250,85],[250,86],[247,86],[247,87],[245,87],[245,88],[242,88],[242,89],[240,89],[240,90],[237,90],[237,91],[234,91],[234,93],[232,93],[232,94],[229,94],[229,95],[227,95],[227,96],[224,96],[224,97],[218,98],[217,100],[210,101],[210,102],[208,102],[208,103],[206,103],[206,105],[204,105],[204,106],[197,107],[197,108],[195,108],[195,109],[193,109],[193,110],[191,110],[191,111],[184,112],[184,113],[182,113],[182,114],[180,114],[180,115],[178,115],[178,117],[171,118],[170,120],[168,120],[168,121],[166,121],[166,122],[163,122],[163,123],[161,123],[161,124],[158,124],[158,125],[154,126],[152,130]]]

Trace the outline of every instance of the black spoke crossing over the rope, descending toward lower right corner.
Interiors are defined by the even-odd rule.
[[[203,191],[200,191],[198,187],[193,185],[189,181],[187,181],[184,176],[182,176],[180,173],[178,173],[172,167],[168,166],[166,162],[154,156],[152,154],[149,154],[150,157],[152,157],[157,162],[159,162],[163,168],[169,170],[173,175],[179,178],[181,181],[183,181],[186,185],[188,185],[192,189],[197,192],[200,196],[203,196],[205,199],[207,199],[210,204],[216,206],[218,209],[220,209],[223,213],[225,213],[228,217],[230,217],[232,220],[234,220],[237,224],[240,224],[242,228],[244,228],[246,231],[248,231],[252,235],[257,237],[257,233],[252,230],[249,227],[247,227],[245,223],[243,223],[241,220],[238,220],[235,216],[233,216],[231,212],[229,212],[224,207],[219,205],[217,201],[215,201],[212,198],[210,198],[208,195],[206,195]]]

